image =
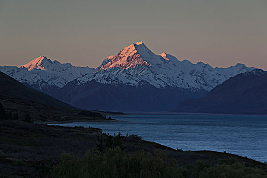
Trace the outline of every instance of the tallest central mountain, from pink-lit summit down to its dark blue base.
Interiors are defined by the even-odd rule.
[[[66,84],[58,99],[95,110],[167,111],[185,99],[198,98],[236,74],[251,71],[245,65],[213,68],[179,61],[163,52],[154,54],[143,42],[107,57],[97,72]]]

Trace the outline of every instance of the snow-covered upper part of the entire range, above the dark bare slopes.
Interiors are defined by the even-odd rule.
[[[0,66],[0,71],[45,93],[49,92],[44,90],[51,90],[47,88],[62,88],[71,81],[82,85],[92,80],[113,85],[147,83],[157,88],[170,86],[210,91],[230,77],[254,69],[244,64],[213,68],[202,62],[179,61],[165,52],[153,53],[143,42],[133,43],[117,55],[107,57],[97,69],[62,64],[45,56],[20,67]]]

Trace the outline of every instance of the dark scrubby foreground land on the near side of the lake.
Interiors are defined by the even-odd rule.
[[[267,176],[266,164],[245,157],[173,150],[135,135],[106,135],[97,128],[0,119],[0,130],[0,177]]]

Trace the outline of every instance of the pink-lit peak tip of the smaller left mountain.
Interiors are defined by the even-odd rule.
[[[27,64],[19,66],[19,68],[27,68],[28,71],[33,69],[45,70],[44,65],[48,63],[52,63],[51,60],[49,60],[46,56],[41,55]]]

